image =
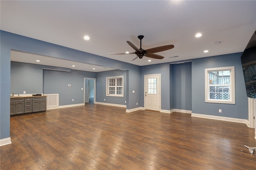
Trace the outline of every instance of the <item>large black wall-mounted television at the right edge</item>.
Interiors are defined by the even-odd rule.
[[[241,56],[248,98],[256,98],[256,31]]]

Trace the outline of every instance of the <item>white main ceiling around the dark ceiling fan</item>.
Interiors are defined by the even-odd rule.
[[[1,30],[139,66],[242,52],[256,30],[255,0],[1,0],[0,7]],[[202,37],[195,37],[198,32]],[[108,55],[134,52],[126,41],[140,48],[138,35],[144,35],[143,49],[170,44],[174,49],[156,53],[165,58],[151,62]]]

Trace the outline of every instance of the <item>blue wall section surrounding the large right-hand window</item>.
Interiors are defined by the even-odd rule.
[[[248,99],[240,56],[242,53],[192,60],[192,113],[248,119]],[[236,104],[205,103],[204,69],[235,66]],[[218,113],[222,109],[222,113]]]

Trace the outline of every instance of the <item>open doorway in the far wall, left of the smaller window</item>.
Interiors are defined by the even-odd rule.
[[[96,101],[96,78],[84,78],[84,103],[94,104]]]

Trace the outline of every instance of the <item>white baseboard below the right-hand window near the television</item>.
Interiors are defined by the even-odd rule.
[[[222,117],[222,116],[214,116],[214,115],[203,115],[203,114],[198,114],[198,113],[191,113],[192,117],[201,117],[201,118],[206,118],[206,119],[215,119],[215,120],[222,120],[222,121],[232,121],[232,122],[237,122],[237,123],[246,123],[246,125],[249,125],[248,120],[246,119],[237,119],[237,118],[232,118],[232,117]]]

